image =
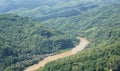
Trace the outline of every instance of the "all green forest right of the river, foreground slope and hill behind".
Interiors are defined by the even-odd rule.
[[[76,55],[50,62],[38,71],[120,71],[120,3],[106,2],[77,16],[42,23],[87,37],[90,44]]]

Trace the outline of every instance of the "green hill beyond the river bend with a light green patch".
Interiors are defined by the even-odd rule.
[[[120,37],[119,19],[120,3],[105,2],[99,4],[98,7],[79,13],[77,16],[50,19],[42,22],[42,24],[54,28],[60,26],[56,29],[87,37],[94,41],[93,44],[96,44],[102,43],[101,40],[106,42],[109,39],[113,40]]]

